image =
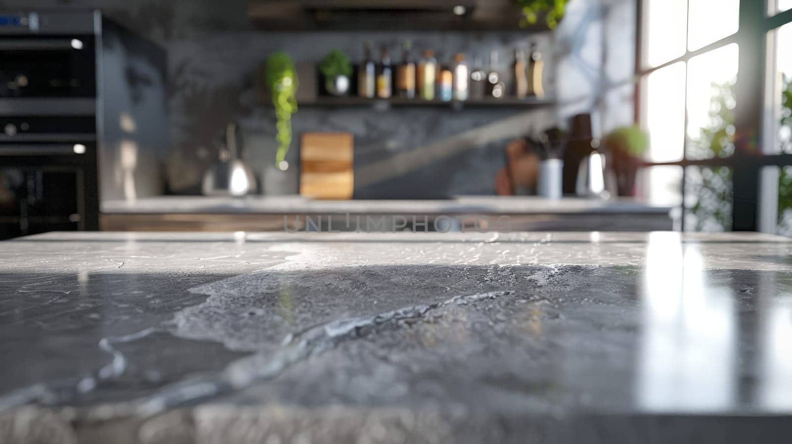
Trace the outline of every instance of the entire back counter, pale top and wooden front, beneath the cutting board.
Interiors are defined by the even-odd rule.
[[[351,217],[405,218],[403,230],[434,229],[440,217],[460,218],[451,230],[476,229],[475,218],[508,216],[512,230],[650,231],[672,230],[678,208],[639,199],[585,199],[536,196],[461,195],[451,199],[318,200],[299,195],[240,198],[168,195],[102,203],[100,226],[110,231],[282,231],[284,218],[321,218],[322,230],[349,231]],[[333,223],[328,223],[332,220]],[[419,226],[413,226],[413,221]],[[388,224],[393,225],[393,224]],[[400,224],[397,224],[400,225]],[[354,231],[354,229],[352,230]]]

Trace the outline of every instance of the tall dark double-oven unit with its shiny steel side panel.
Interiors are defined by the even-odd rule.
[[[162,193],[166,52],[98,11],[0,13],[0,239]]]

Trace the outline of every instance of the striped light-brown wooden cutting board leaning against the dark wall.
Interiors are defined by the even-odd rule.
[[[303,133],[299,194],[314,199],[352,199],[351,133]]]

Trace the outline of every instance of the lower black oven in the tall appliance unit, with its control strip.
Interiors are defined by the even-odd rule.
[[[86,228],[95,127],[93,116],[0,116],[0,239]]]

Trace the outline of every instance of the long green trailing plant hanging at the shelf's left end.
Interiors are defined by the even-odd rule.
[[[297,71],[294,61],[284,51],[274,52],[265,61],[264,82],[272,96],[275,107],[275,128],[278,150],[275,154],[275,166],[284,170],[288,168],[286,153],[291,146],[291,115],[297,111]]]

